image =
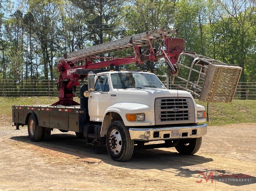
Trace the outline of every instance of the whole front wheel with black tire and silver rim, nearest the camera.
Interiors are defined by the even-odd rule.
[[[128,127],[123,121],[114,121],[108,127],[107,149],[111,159],[125,162],[131,159],[134,150],[134,140],[131,140]]]

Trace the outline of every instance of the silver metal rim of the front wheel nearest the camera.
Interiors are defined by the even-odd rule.
[[[122,138],[119,131],[112,130],[109,136],[109,147],[114,154],[119,154],[122,149]]]

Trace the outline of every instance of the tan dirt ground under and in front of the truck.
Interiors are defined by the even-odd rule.
[[[150,149],[123,163],[74,133],[55,129],[50,140],[31,142],[27,126],[0,126],[0,190],[256,190],[256,124],[209,127],[193,156]]]

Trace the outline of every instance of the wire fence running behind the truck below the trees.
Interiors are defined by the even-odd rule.
[[[168,89],[181,89],[172,85],[169,77],[160,78]],[[0,96],[59,96],[57,80],[0,80],[0,89]],[[80,95],[80,87],[77,87],[75,94]],[[256,99],[256,82],[238,83],[234,98]]]

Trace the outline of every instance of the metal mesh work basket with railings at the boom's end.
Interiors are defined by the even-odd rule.
[[[182,64],[185,60],[190,61],[190,67]],[[202,102],[232,102],[243,70],[237,65],[189,53],[180,54],[176,65],[179,72],[187,70],[188,78],[175,75],[172,84],[185,89]],[[191,80],[192,77],[197,80]]]

